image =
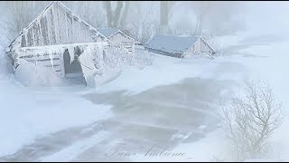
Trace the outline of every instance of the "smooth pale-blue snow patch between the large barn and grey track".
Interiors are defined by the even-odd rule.
[[[0,156],[13,154],[37,137],[111,116],[109,105],[95,105],[70,91],[33,91],[14,78],[1,81]]]

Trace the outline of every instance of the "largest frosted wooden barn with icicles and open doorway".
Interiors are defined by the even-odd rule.
[[[65,5],[53,1],[17,35],[6,53],[13,60],[14,71],[23,62],[33,62],[50,68],[59,77],[83,76],[79,55],[108,42]]]

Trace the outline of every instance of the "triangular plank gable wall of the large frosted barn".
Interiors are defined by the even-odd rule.
[[[91,37],[95,31],[59,3],[49,6],[25,31],[22,47],[96,42]]]

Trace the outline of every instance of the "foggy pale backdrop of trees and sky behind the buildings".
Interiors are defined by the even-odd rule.
[[[50,1],[1,2],[1,44],[7,45]],[[155,33],[207,37],[244,30],[288,35],[288,2],[62,2],[96,28],[119,28],[147,42]],[[7,38],[7,39],[5,39]]]

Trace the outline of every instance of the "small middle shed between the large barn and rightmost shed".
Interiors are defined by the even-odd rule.
[[[135,54],[135,44],[141,44],[119,29],[98,29],[98,32],[105,35],[112,45],[124,47],[130,54]]]

